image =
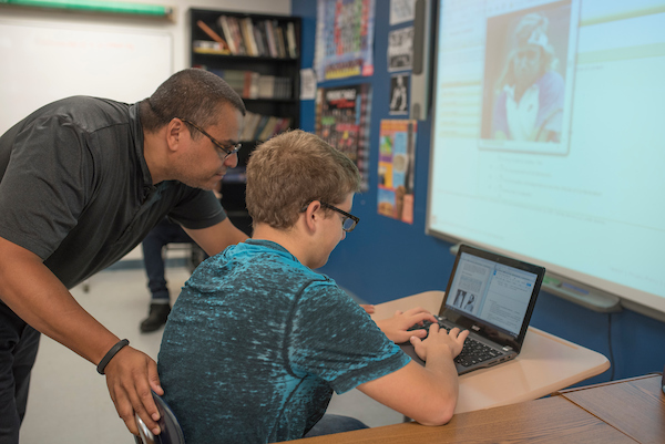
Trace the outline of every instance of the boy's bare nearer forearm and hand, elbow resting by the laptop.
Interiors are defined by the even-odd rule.
[[[458,399],[458,374],[452,359],[462,350],[468,331],[452,329],[450,334],[430,327],[424,341],[411,339],[421,366],[409,362],[403,368],[358,385],[358,390],[423,425],[446,424],[452,417]]]

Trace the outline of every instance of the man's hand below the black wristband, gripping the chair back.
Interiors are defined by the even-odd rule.
[[[160,413],[151,393],[152,389],[160,396],[164,394],[156,362],[143,352],[125,347],[109,362],[104,374],[117,415],[130,432],[139,434],[134,419],[136,412],[153,434],[160,434],[156,423]]]

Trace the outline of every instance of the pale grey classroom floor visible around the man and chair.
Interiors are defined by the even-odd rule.
[[[136,262],[136,261],[134,261]],[[171,267],[166,279],[175,298],[188,277],[185,267]],[[150,293],[142,268],[116,269],[95,275],[88,292],[72,289],[79,303],[132,347],[156,359],[162,330],[142,334],[139,323],[147,314]],[[330,413],[354,416],[369,426],[399,423],[402,416],[357,390],[335,395]],[[21,427],[21,443],[133,443],[119,419],[105,380],[90,362],[42,337],[32,372],[28,413]]]

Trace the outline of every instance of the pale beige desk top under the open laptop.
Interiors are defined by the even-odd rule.
[[[438,313],[443,291],[426,291],[376,306],[372,319],[390,318],[396,310],[422,307]],[[460,376],[456,413],[535,400],[595,376],[610,368],[593,350],[529,328],[516,359]]]

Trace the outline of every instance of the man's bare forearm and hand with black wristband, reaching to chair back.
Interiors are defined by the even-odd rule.
[[[34,329],[62,343],[93,364],[119,341],[74,300],[39,256],[0,237],[0,297]],[[94,369],[90,369],[94,371]],[[119,415],[139,434],[134,411],[158,433],[160,414],[151,395],[158,394],[156,363],[145,353],[123,348],[105,368],[106,385]]]

